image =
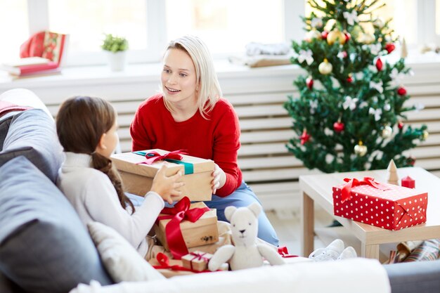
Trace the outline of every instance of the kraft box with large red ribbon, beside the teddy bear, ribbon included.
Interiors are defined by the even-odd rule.
[[[219,241],[216,209],[209,209],[203,202],[190,204],[188,197],[183,197],[173,208],[162,210],[155,233],[174,259],[179,259],[188,254],[190,247]]]

